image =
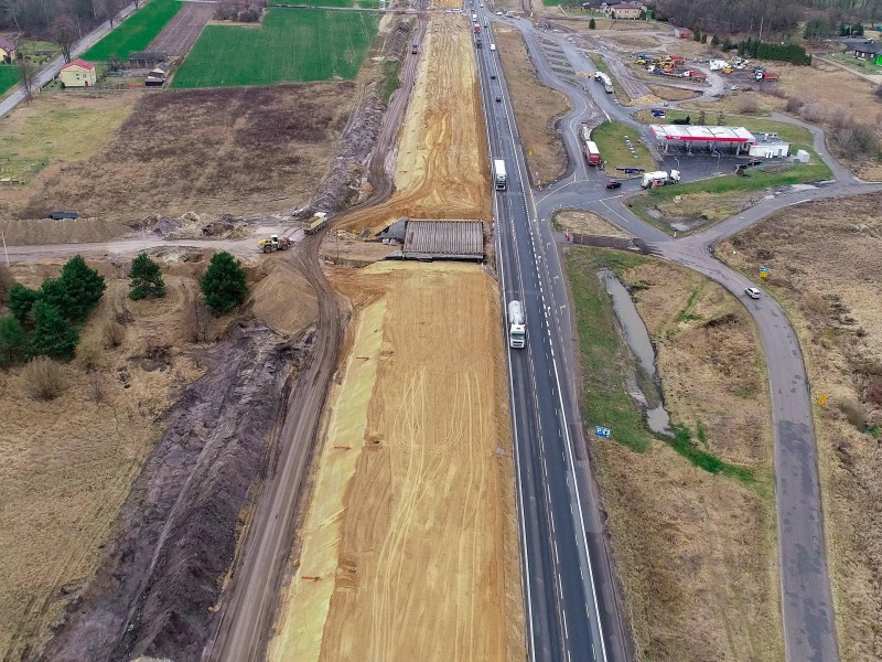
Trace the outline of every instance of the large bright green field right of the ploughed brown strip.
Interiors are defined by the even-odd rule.
[[[207,25],[172,86],[352,79],[378,24],[367,12],[270,9],[260,28]]]

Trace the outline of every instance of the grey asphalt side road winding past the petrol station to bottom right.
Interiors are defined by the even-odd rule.
[[[573,111],[559,122],[563,142],[570,158],[566,179],[549,188],[537,205],[537,216],[550,220],[558,209],[585,209],[593,211],[616,226],[650,243],[653,252],[665,259],[677,261],[716,280],[738,296],[754,318],[768,366],[771,409],[773,417],[775,494],[777,509],[778,556],[781,563],[782,620],[786,658],[793,662],[827,662],[839,659],[836,639],[833,605],[824,535],[818,479],[817,444],[811,417],[811,393],[803,363],[803,354],[793,327],[776,301],[764,297],[759,301],[745,300],[744,288],[753,284],[745,276],[717,260],[712,247],[753,223],[757,223],[783,207],[821,197],[856,195],[882,190],[882,185],[861,184],[859,180],[836,162],[825,147],[824,132],[814,126],[788,117],[775,119],[806,126],[814,136],[815,148],[830,166],[836,179],[821,188],[799,193],[776,195],[704,232],[671,239],[657,228],[637,218],[621,196],[611,197],[600,182],[580,177],[584,170],[573,127],[585,117],[596,117],[598,111],[625,121],[639,134],[628,113],[612,102],[607,95],[591,94],[591,86],[573,85],[558,78],[546,61],[536,38],[535,28],[526,21],[510,21],[525,38],[540,81],[566,93],[572,100]],[[566,35],[544,33],[544,39],[555,41],[567,53],[576,71],[593,71],[582,53]],[[547,225],[544,223],[542,225]],[[549,229],[550,232],[550,229]],[[568,313],[560,322],[568,328]]]

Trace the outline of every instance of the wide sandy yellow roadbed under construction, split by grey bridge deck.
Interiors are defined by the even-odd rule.
[[[433,17],[422,44],[398,192],[344,227],[488,220],[467,23]],[[476,266],[409,264],[335,268],[332,281],[354,307],[348,357],[270,659],[523,659],[495,282]],[[467,322],[439,334],[439,318]]]

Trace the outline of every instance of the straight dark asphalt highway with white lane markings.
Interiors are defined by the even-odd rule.
[[[527,346],[508,350],[527,648],[531,660],[625,660],[627,638],[615,601],[610,555],[598,522],[572,384],[560,364],[566,290],[527,184],[502,68],[475,10],[476,49],[491,159],[506,162],[508,188],[494,195],[494,239],[503,303],[523,301]],[[491,76],[496,76],[495,79]],[[496,98],[502,100],[497,102]],[[553,266],[552,266],[553,265]],[[507,342],[506,342],[507,344]]]

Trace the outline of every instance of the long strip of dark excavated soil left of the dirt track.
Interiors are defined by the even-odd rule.
[[[213,369],[169,414],[122,510],[120,537],[44,660],[200,659],[233,562],[234,523],[266,472],[267,436],[313,335],[292,344],[252,322],[208,353]]]

